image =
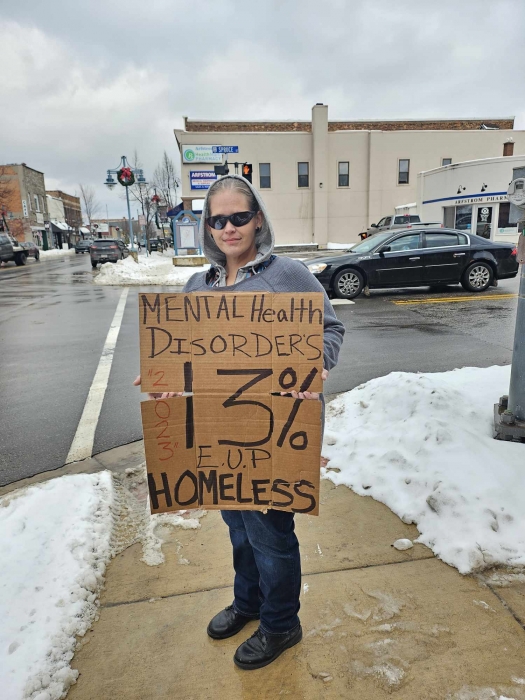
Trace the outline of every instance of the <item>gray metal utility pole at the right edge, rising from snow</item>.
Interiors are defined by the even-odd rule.
[[[525,177],[514,179],[508,189],[511,204],[521,213],[518,221],[517,261],[521,266],[509,395],[494,406],[494,437],[525,443]]]

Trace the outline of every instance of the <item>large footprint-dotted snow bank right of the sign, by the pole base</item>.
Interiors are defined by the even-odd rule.
[[[525,445],[494,440],[509,367],[393,372],[327,407],[323,476],[416,523],[466,574],[525,565]]]

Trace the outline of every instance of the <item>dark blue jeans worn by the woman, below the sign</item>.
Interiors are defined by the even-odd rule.
[[[235,569],[233,607],[261,616],[269,634],[285,634],[299,624],[301,557],[294,514],[281,510],[223,510],[230,528]]]

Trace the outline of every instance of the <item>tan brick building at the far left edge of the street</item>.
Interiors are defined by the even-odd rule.
[[[12,236],[43,245],[49,219],[44,173],[25,163],[0,165],[0,207]]]

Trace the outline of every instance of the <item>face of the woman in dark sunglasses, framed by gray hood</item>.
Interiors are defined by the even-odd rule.
[[[248,197],[242,192],[223,190],[210,199],[208,216],[229,216],[250,210]],[[248,253],[255,253],[255,229],[261,225],[262,212],[260,211],[244,226],[234,226],[231,221],[227,221],[226,226],[217,231],[206,224],[208,232],[226,258],[242,258]],[[253,258],[255,258],[255,254]],[[253,258],[249,257],[245,262],[249,262]]]

